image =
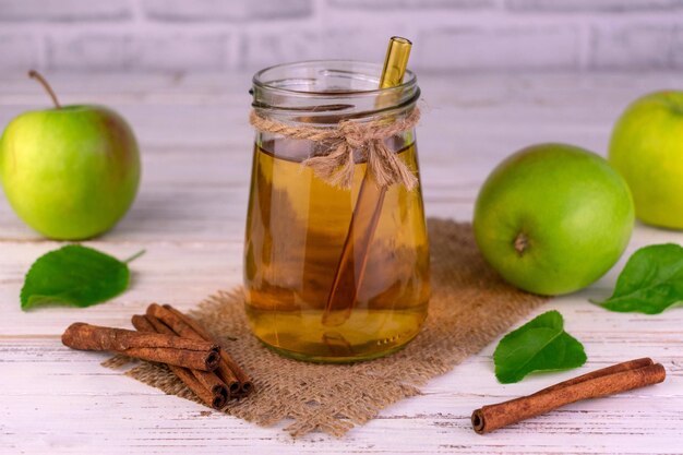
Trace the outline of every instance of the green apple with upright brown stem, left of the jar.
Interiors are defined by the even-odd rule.
[[[103,106],[59,106],[14,118],[0,139],[0,177],[14,212],[46,237],[79,240],[111,228],[140,181],[137,143]]]

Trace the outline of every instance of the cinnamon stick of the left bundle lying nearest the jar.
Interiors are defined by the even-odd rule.
[[[164,321],[164,323],[171,327],[179,336],[217,343],[196,321],[170,304],[161,307],[157,303],[152,303],[147,308],[147,314]],[[230,386],[230,392],[233,394],[247,395],[253,390],[251,379],[228,355],[225,348],[220,349],[220,362],[218,363],[216,373]]]

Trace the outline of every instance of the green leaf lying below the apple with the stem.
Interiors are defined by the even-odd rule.
[[[125,262],[70,244],[33,263],[21,292],[22,310],[46,304],[89,307],[123,292],[129,279]]]

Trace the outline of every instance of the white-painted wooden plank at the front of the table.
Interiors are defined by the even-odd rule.
[[[35,387],[31,391],[15,387],[0,393],[4,412],[19,416],[19,419],[5,420],[2,434],[23,432],[33,436],[27,441],[43,444],[44,448],[46,442],[55,443],[67,434],[70,450],[83,444],[76,453],[93,447],[94,439],[101,441],[101,445],[97,444],[100,448],[106,450],[104,443],[108,442],[116,444],[119,451],[140,450],[142,445],[145,450],[170,446],[181,452],[202,447],[217,453],[225,450],[220,445],[226,444],[252,453],[320,453],[323,447],[325,453],[657,453],[658,447],[675,447],[680,432],[678,400],[682,397],[683,384],[680,370],[670,375],[667,383],[649,390],[575,404],[479,436],[469,428],[471,409],[490,400],[531,392],[540,383],[546,385],[576,372],[501,386],[492,379],[488,356],[477,356],[457,368],[456,374],[432,381],[424,387],[424,395],[388,408],[376,420],[342,440],[313,434],[291,442],[279,431],[283,426],[255,428],[117,375],[97,364],[103,356],[50,349],[43,344],[29,344],[28,348],[24,352],[16,349],[13,357],[28,357],[33,351],[37,359],[28,357],[25,363],[13,367],[31,366],[33,371],[12,368],[13,372],[19,372],[14,373],[13,383],[32,379]],[[610,357],[598,357],[590,368],[611,361]],[[46,367],[52,367],[51,363],[56,363],[51,374],[40,374]],[[448,376],[454,376],[457,383]],[[57,386],[50,386],[55,382]],[[457,392],[453,387],[458,383],[464,390],[476,393]],[[47,387],[44,392],[36,392],[44,386]],[[26,408],[28,398],[31,408]],[[64,399],[69,403],[68,411]],[[93,420],[94,415],[99,417]],[[79,430],[74,433],[74,429]],[[649,444],[647,447],[642,445],[644,441]],[[639,450],[635,450],[636,443]]]

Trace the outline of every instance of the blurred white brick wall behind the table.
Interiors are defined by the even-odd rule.
[[[255,70],[381,61],[419,71],[683,69],[683,0],[0,0],[0,73]]]

